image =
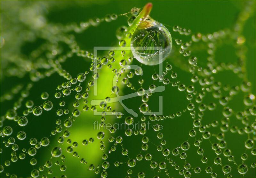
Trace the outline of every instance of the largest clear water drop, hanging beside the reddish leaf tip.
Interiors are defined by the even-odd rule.
[[[171,53],[172,37],[168,29],[149,16],[140,23],[132,35],[131,50],[134,57],[145,65],[162,63]]]

